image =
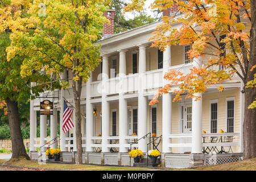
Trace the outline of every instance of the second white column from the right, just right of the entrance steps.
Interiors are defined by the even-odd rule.
[[[167,46],[166,50],[163,52],[163,76],[168,72],[168,68],[171,65],[171,47]],[[163,85],[168,84],[168,81],[163,78]],[[163,94],[162,97],[163,102],[163,146],[162,152],[171,152],[171,148],[169,147],[170,139],[169,135],[171,134],[171,117],[172,117],[172,96],[171,93]]]

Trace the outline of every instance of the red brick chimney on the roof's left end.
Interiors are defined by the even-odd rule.
[[[114,34],[114,18],[115,18],[115,10],[107,10],[104,12],[104,16],[110,20],[110,24],[103,24],[103,38],[107,38],[110,35]]]

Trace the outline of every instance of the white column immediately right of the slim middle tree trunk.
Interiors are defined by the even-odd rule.
[[[90,84],[92,83],[92,72],[86,83],[86,152],[92,152],[93,137],[93,105],[90,104]]]

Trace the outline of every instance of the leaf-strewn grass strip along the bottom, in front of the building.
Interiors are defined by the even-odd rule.
[[[143,168],[143,167],[116,167],[116,166],[96,166],[96,165],[77,165],[77,164],[57,164],[57,163],[47,163],[38,164],[36,161],[16,159],[11,162],[0,159],[0,164],[9,164],[13,167],[23,167],[23,168],[38,168],[38,169],[65,169],[65,170],[82,170],[82,171],[156,171],[163,170],[158,168]],[[214,166],[205,166],[193,169],[167,169],[167,170],[200,170],[200,171],[243,171],[251,170],[256,171],[256,158],[250,160],[242,160],[240,162],[221,164]]]

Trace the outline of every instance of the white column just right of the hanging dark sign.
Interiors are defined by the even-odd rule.
[[[51,115],[51,148],[57,148],[57,132],[57,109],[53,108],[53,115]],[[53,140],[55,138],[56,140]]]

